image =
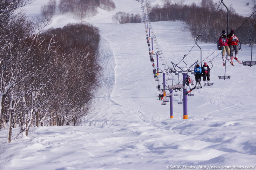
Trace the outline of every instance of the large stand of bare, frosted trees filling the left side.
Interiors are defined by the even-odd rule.
[[[7,142],[32,126],[78,125],[99,86],[99,30],[79,23],[42,31],[48,21],[32,22],[21,10],[29,2],[0,2],[0,130],[8,129]]]

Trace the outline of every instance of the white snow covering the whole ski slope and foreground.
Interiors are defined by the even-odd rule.
[[[177,103],[181,95],[178,91],[179,95],[173,97],[174,118],[170,119],[170,104],[161,105],[157,97],[156,86],[162,85],[163,76],[159,75],[160,82],[153,78],[144,23],[119,25],[111,21],[117,11],[142,14],[141,3],[114,2],[115,11],[100,10],[86,20],[99,27],[101,34],[103,75],[99,77],[101,88],[96,90],[93,111],[80,126],[32,127],[27,138],[11,143],[6,143],[7,130],[2,129],[0,170],[255,169],[256,66],[243,66],[235,60],[231,66],[227,62],[226,75],[230,79],[218,79],[224,75],[220,50],[214,52],[216,44],[198,42],[202,59],[208,57],[203,62],[213,63],[210,82],[214,85],[195,89],[194,96],[188,96],[188,119],[183,119],[183,105]],[[232,1],[233,7],[243,9],[242,15],[250,16],[250,7],[245,3]],[[42,3],[37,0],[34,4]],[[35,14],[33,10],[28,13]],[[78,21],[58,15],[49,27],[62,27],[67,22]],[[179,66],[185,67],[182,58],[195,40],[190,32],[183,31],[184,23],[151,25],[165,58],[165,66],[159,60],[160,69],[171,66],[171,61],[181,61]],[[253,61],[255,55],[253,47]],[[250,61],[251,47],[242,46],[238,57],[241,62]],[[190,66],[196,60],[200,61],[197,46],[184,61]],[[178,76],[174,77],[176,84]],[[172,84],[171,80],[167,83]],[[18,131],[14,129],[13,137]]]

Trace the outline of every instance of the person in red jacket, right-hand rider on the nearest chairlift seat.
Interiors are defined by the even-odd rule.
[[[235,59],[238,59],[238,38],[234,35],[235,31],[232,28],[230,34],[228,35],[228,46],[230,48],[230,57],[233,59],[233,51],[235,51]]]

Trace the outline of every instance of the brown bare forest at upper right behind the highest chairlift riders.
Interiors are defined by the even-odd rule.
[[[221,36],[222,30],[227,29],[227,9],[221,5],[213,3],[212,0],[202,0],[201,6],[179,5],[177,3],[165,3],[163,7],[155,6],[150,8],[148,14],[153,21],[184,21],[186,29],[191,32],[194,39],[201,34],[200,40],[207,43],[216,43]],[[218,10],[216,10],[218,8]],[[256,34],[256,15],[254,14],[247,22],[248,17],[238,15],[232,6],[229,6],[229,30],[234,28],[236,36],[244,45],[250,44],[250,39]],[[242,26],[242,27],[241,27]]]

